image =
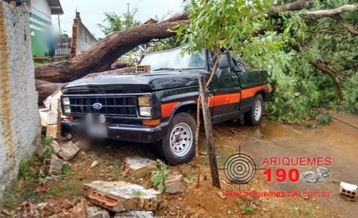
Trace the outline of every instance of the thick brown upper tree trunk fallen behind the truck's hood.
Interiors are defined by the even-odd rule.
[[[52,83],[67,83],[88,73],[108,71],[119,56],[134,49],[138,44],[175,35],[175,32],[169,30],[177,23],[189,23],[189,20],[147,24],[114,32],[81,56],[36,66],[35,78]]]

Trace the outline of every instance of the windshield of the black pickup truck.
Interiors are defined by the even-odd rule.
[[[164,52],[146,54],[140,61],[140,65],[150,65],[151,71],[205,68],[203,51],[194,54],[182,54],[183,49],[183,47],[180,47]]]

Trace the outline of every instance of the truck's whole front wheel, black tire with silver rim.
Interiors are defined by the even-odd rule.
[[[173,116],[168,133],[157,145],[158,152],[173,166],[189,162],[195,155],[197,121],[187,113]]]

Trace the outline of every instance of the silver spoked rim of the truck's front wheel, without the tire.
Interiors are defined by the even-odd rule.
[[[178,123],[171,131],[171,152],[177,157],[184,157],[192,148],[192,130],[187,123]]]

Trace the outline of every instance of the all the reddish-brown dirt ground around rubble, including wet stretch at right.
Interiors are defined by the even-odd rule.
[[[340,119],[348,119],[358,126],[357,116],[336,114]],[[206,155],[204,131],[200,133],[199,157],[188,164],[170,166],[171,173],[183,174],[189,185],[185,193],[163,194],[163,204],[154,214],[159,217],[354,217],[358,212],[357,202],[348,202],[339,196],[338,181],[357,183],[354,169],[357,168],[358,134],[356,129],[347,128],[342,123],[333,121],[331,126],[318,128],[300,128],[283,126],[264,120],[260,126],[246,127],[240,122],[230,121],[214,126],[214,139],[218,168],[228,157],[241,152],[252,157],[260,166],[264,157],[329,156],[332,158],[332,176],[323,184],[310,185],[297,183],[268,183],[262,171],[258,170],[252,181],[239,187],[230,183],[223,170],[219,170],[221,190],[211,186],[209,159]],[[154,188],[150,175],[132,179],[121,175],[121,164],[125,157],[139,155],[157,159],[154,148],[150,145],[135,143],[106,142],[94,147],[82,147],[76,157],[70,161],[70,174],[61,180],[49,182],[49,190],[32,199],[32,202],[49,200],[72,200],[82,198],[82,184],[90,181],[125,180]],[[99,166],[90,168],[97,160]],[[31,168],[37,171],[40,164],[33,160]],[[200,185],[197,188],[197,166],[201,166]],[[306,170],[306,169],[304,169]],[[13,183],[5,193],[1,209],[15,210],[21,202],[28,199],[35,190],[38,181],[28,179]],[[222,191],[267,192],[287,190],[326,190],[331,192],[328,198],[310,197],[227,197],[221,198]],[[1,208],[2,207],[2,208]],[[1,217],[1,216],[0,216]]]

